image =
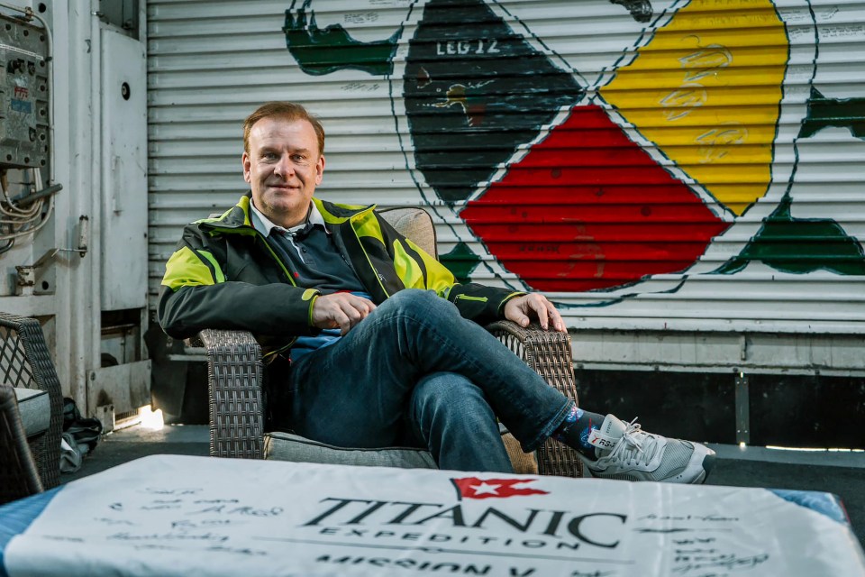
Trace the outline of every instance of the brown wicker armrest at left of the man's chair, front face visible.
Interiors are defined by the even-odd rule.
[[[261,346],[247,331],[205,329],[210,454],[260,459],[264,447]]]

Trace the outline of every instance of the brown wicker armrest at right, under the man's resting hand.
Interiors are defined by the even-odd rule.
[[[551,387],[559,389],[575,403],[578,402],[568,333],[545,331],[536,324],[524,328],[506,320],[488,325],[487,330],[541,375]],[[583,467],[577,451],[555,439],[547,439],[538,449],[538,471],[542,475],[581,477]]]

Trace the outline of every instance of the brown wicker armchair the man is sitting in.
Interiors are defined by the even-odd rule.
[[[435,229],[432,218],[426,211],[420,208],[393,208],[381,211],[381,214],[397,231],[411,238],[426,252],[437,255]],[[487,329],[524,359],[551,386],[577,400],[568,334],[544,331],[538,326],[523,328],[510,321],[496,322]],[[269,453],[269,442],[280,434],[265,433],[265,408],[261,389],[263,365],[259,343],[245,331],[214,329],[202,331],[197,339],[192,339],[190,343],[193,346],[204,346],[207,354],[211,455],[264,458],[265,453]],[[298,438],[302,439],[295,437],[295,440]],[[515,472],[540,472],[570,477],[582,474],[576,452],[558,441],[548,440],[535,459],[534,455],[522,453],[512,435],[507,434],[503,438]],[[316,449],[327,451],[335,448],[320,445]],[[363,450],[353,451],[358,453]],[[307,460],[304,457],[282,458]],[[431,457],[427,456],[426,459],[428,463],[432,463]],[[346,462],[358,463],[353,458]]]

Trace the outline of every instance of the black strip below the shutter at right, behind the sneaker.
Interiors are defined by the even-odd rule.
[[[631,420],[651,433],[738,444],[736,373],[578,370],[580,406]],[[865,448],[865,379],[747,374],[756,446]]]

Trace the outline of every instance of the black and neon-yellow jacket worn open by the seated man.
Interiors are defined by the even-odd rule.
[[[159,324],[175,338],[203,328],[248,330],[265,349],[282,349],[310,325],[316,289],[296,287],[292,270],[250,221],[250,193],[218,218],[187,224],[171,255],[159,296]],[[523,294],[456,283],[450,270],[387,223],[374,206],[314,198],[335,243],[379,304],[402,289],[434,290],[485,324],[501,317],[508,298]]]

